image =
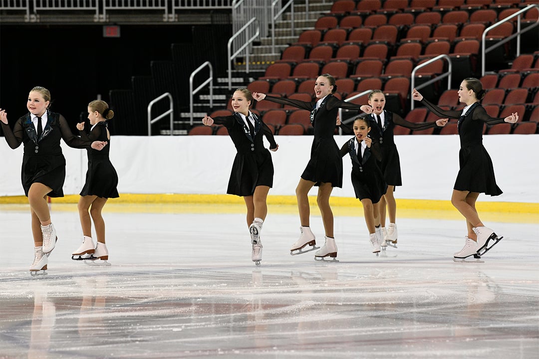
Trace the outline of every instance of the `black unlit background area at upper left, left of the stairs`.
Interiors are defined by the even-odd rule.
[[[223,64],[217,68],[223,68],[231,26],[209,27],[122,25],[121,37],[104,38],[102,24],[0,25],[0,108],[14,122],[27,112],[30,89],[43,86],[51,91],[52,110],[63,114],[74,128],[98,94],[109,102],[110,90],[130,89],[132,76],[151,75],[151,61],[171,61],[171,44],[201,48],[185,53],[190,65],[179,66],[185,71],[206,60],[220,61]],[[181,86],[188,88],[189,75],[179,77]]]

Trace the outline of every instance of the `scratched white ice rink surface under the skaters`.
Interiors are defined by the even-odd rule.
[[[297,212],[270,207],[257,267],[241,207],[110,204],[96,267],[71,259],[76,207],[52,206],[57,247],[31,278],[29,210],[0,206],[0,358],[539,357],[537,219],[482,216],[505,238],[454,263],[458,214],[398,213],[398,249],[376,257],[361,206],[336,210],[340,262],[319,263],[289,254]]]

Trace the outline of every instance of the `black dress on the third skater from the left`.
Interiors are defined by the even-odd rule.
[[[226,193],[241,197],[253,195],[257,186],[273,186],[273,161],[271,153],[264,147],[263,136],[266,136],[270,149],[277,147],[269,127],[252,112],[249,116],[254,119],[254,138],[238,112],[213,118],[213,123],[226,127],[238,151]]]

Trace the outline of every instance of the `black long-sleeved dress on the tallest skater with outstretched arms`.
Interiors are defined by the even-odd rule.
[[[266,96],[265,100],[310,111],[314,138],[310,149],[310,159],[301,178],[315,182],[315,186],[330,183],[332,187],[342,187],[342,157],[333,138],[337,113],[339,108],[359,111],[361,106],[341,101],[331,94],[322,100],[318,109],[316,109],[316,101],[305,102],[273,96]]]

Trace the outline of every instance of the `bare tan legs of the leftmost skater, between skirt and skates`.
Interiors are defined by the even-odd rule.
[[[28,202],[30,203],[30,212],[32,215],[32,236],[34,247],[43,244],[43,234],[41,226],[51,224],[51,213],[47,204],[47,193],[51,192],[52,188],[44,184],[34,183],[28,191]]]

